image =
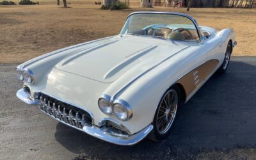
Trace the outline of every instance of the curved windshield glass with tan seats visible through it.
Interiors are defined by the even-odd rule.
[[[152,36],[166,40],[199,40],[192,20],[172,13],[135,13],[127,19],[120,34]]]

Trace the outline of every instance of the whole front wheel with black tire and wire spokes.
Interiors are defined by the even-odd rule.
[[[161,141],[167,138],[172,131],[172,125],[177,113],[179,104],[179,88],[173,86],[164,93],[159,102],[154,116],[154,129],[148,138],[154,141]]]

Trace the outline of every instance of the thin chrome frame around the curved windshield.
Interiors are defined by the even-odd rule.
[[[191,17],[189,15],[186,15],[184,13],[179,13],[179,12],[150,12],[150,11],[132,12],[131,14],[128,15],[128,17],[125,21],[125,24],[124,24],[122,30],[120,31],[119,35],[121,35],[121,36],[124,35],[124,34],[122,34],[122,31],[124,30],[124,27],[127,24],[127,20],[129,19],[129,17],[131,17],[131,15],[141,14],[141,13],[143,13],[143,14],[148,13],[148,14],[179,15],[179,16],[182,16],[182,17],[186,17],[186,18],[188,18],[189,20],[191,20],[193,22],[193,24],[195,25],[195,28],[196,28],[196,32],[198,33],[198,36],[199,36],[199,40],[193,41],[193,42],[198,43],[198,42],[202,42],[202,40],[203,40],[202,35],[200,34],[200,29],[199,29],[198,23],[196,22],[196,20],[193,19],[193,17]],[[186,42],[186,41],[183,41],[183,42]]]

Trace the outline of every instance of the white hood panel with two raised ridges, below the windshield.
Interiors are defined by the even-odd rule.
[[[140,67],[138,69],[143,72],[186,47],[156,38],[118,36],[72,53],[55,68],[102,83],[112,83],[131,68]]]

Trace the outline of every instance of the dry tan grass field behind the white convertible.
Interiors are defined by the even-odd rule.
[[[69,4],[63,9],[53,4],[0,6],[0,63],[22,62],[74,45],[119,33],[127,15],[145,10],[99,10],[99,6]],[[150,10],[186,12],[185,8]],[[255,56],[256,10],[191,8],[189,15],[201,26],[233,28],[237,37],[236,56]]]

